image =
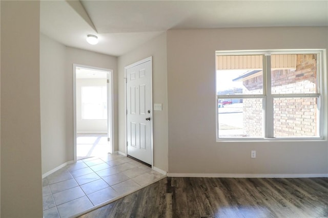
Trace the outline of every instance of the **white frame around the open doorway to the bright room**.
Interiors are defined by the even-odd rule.
[[[107,90],[107,102],[110,104],[110,108],[107,107],[107,124],[110,122],[110,153],[115,152],[115,139],[114,139],[114,75],[113,70],[105,68],[91,67],[81,64],[73,63],[73,148],[74,148],[74,162],[77,161],[76,150],[76,68],[84,68],[96,71],[104,71],[107,73],[107,79],[109,79],[109,89]],[[108,105],[108,103],[107,103]],[[109,115],[109,116],[108,116]],[[108,126],[107,126],[108,128]]]

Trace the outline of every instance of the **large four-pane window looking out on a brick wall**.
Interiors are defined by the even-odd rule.
[[[216,54],[217,138],[319,138],[321,51]]]

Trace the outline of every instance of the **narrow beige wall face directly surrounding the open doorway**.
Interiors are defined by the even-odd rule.
[[[73,145],[73,64],[113,70],[114,74],[114,140],[115,150],[118,150],[118,120],[117,120],[117,57],[67,47],[66,49],[66,126],[68,128],[66,144]],[[73,146],[67,146],[69,160],[73,160]]]

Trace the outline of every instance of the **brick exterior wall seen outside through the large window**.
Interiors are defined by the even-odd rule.
[[[296,70],[274,70],[271,75],[272,93],[315,93],[316,55],[297,55]],[[243,93],[262,93],[262,75],[243,81]],[[276,98],[274,99],[274,135],[316,136],[316,98]],[[243,99],[244,135],[262,137],[262,100]]]

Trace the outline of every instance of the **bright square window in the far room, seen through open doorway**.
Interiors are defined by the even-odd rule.
[[[106,86],[82,86],[81,102],[83,120],[107,119]]]

